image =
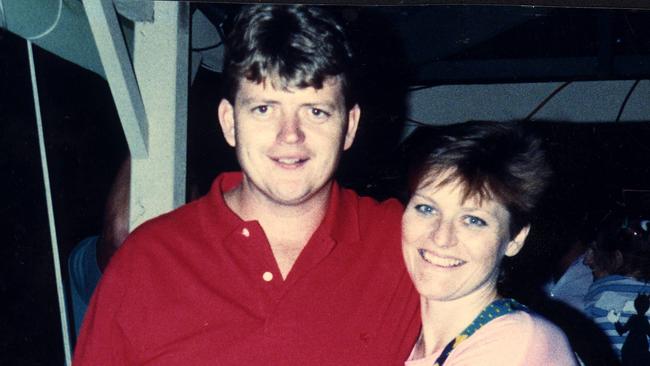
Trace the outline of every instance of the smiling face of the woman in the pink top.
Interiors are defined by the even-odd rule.
[[[496,294],[499,264],[517,254],[528,227],[511,240],[510,214],[491,199],[469,197],[462,186],[438,186],[443,174],[418,187],[402,217],[402,253],[421,296],[450,301]]]

